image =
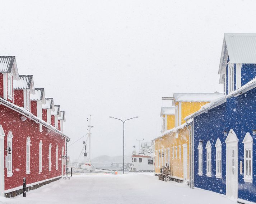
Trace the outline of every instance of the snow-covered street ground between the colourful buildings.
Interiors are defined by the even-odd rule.
[[[74,175],[29,191],[27,197],[0,198],[1,204],[234,204],[224,196],[186,184],[158,180],[152,173]]]

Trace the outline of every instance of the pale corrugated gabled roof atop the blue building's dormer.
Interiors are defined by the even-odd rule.
[[[256,34],[224,34],[219,65],[220,83],[224,83],[228,57],[230,63],[256,64]]]

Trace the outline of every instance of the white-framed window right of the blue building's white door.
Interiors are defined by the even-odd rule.
[[[253,138],[249,132],[246,133],[243,139],[243,180],[248,183],[252,183],[253,175],[253,156],[252,156],[252,144]]]

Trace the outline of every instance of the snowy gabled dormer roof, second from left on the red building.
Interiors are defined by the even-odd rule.
[[[31,93],[35,93],[33,75],[19,75],[19,80],[13,81],[14,89],[30,89]]]

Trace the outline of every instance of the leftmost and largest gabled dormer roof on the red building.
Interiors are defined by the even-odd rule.
[[[11,73],[15,80],[19,79],[15,56],[0,56],[0,73]]]

